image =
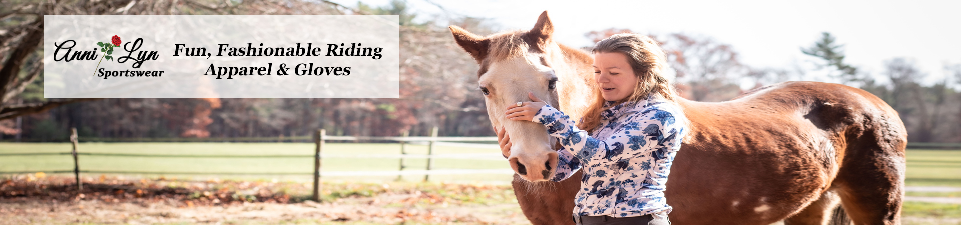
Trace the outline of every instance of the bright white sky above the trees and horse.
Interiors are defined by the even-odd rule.
[[[385,6],[389,1],[361,2]],[[357,6],[357,0],[332,2]],[[954,0],[407,0],[407,5],[422,14],[418,18],[480,17],[505,30],[528,30],[547,11],[556,41],[574,47],[593,45],[584,34],[608,28],[709,37],[730,44],[742,63],[757,68],[814,62],[800,49],[813,45],[823,32],[844,44],[848,63],[875,77],[884,71],[884,62],[894,58],[915,61],[928,84],[947,77],[945,65],[961,64],[961,1]]]

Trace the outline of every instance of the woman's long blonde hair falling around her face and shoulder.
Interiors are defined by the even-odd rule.
[[[671,80],[665,77],[663,71],[667,69],[667,57],[664,50],[652,38],[637,34],[620,34],[603,39],[594,45],[591,50],[593,54],[601,53],[620,53],[628,57],[628,64],[637,76],[637,84],[634,92],[627,98],[615,102],[613,106],[625,102],[639,102],[651,93],[657,93],[668,101],[674,101],[677,97]],[[587,108],[584,113],[583,121],[579,124],[581,130],[593,132],[601,124],[601,113],[610,109],[604,107],[604,97],[601,95],[601,87],[595,88],[597,98],[594,103]]]

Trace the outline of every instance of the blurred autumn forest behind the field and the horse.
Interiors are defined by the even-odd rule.
[[[403,1],[342,6],[328,1],[3,0],[0,9],[0,141],[65,141],[83,137],[302,137],[316,129],[332,136],[494,136],[477,90],[475,62],[447,29],[501,31],[489,20],[411,13]],[[401,18],[401,99],[44,99],[42,50],[36,31],[44,14],[381,14]],[[432,17],[430,17],[432,16]],[[429,22],[414,22],[425,21]],[[535,15],[531,15],[533,25]],[[39,20],[37,20],[39,18]],[[39,22],[38,22],[39,21]],[[629,30],[599,27],[595,41]],[[689,34],[646,34],[663,44],[683,97],[721,102],[755,87],[787,81],[830,81],[865,89],[890,104],[914,142],[961,142],[961,64],[922,71],[912,59],[884,62],[872,74],[845,62],[844,43],[830,34],[798,51],[807,64],[758,68],[739,62],[733,46]],[[817,34],[812,34],[812,37]],[[562,43],[563,44],[563,43]],[[573,46],[588,48],[589,46]],[[927,84],[931,73],[946,73]],[[929,83],[929,82],[928,82]]]

